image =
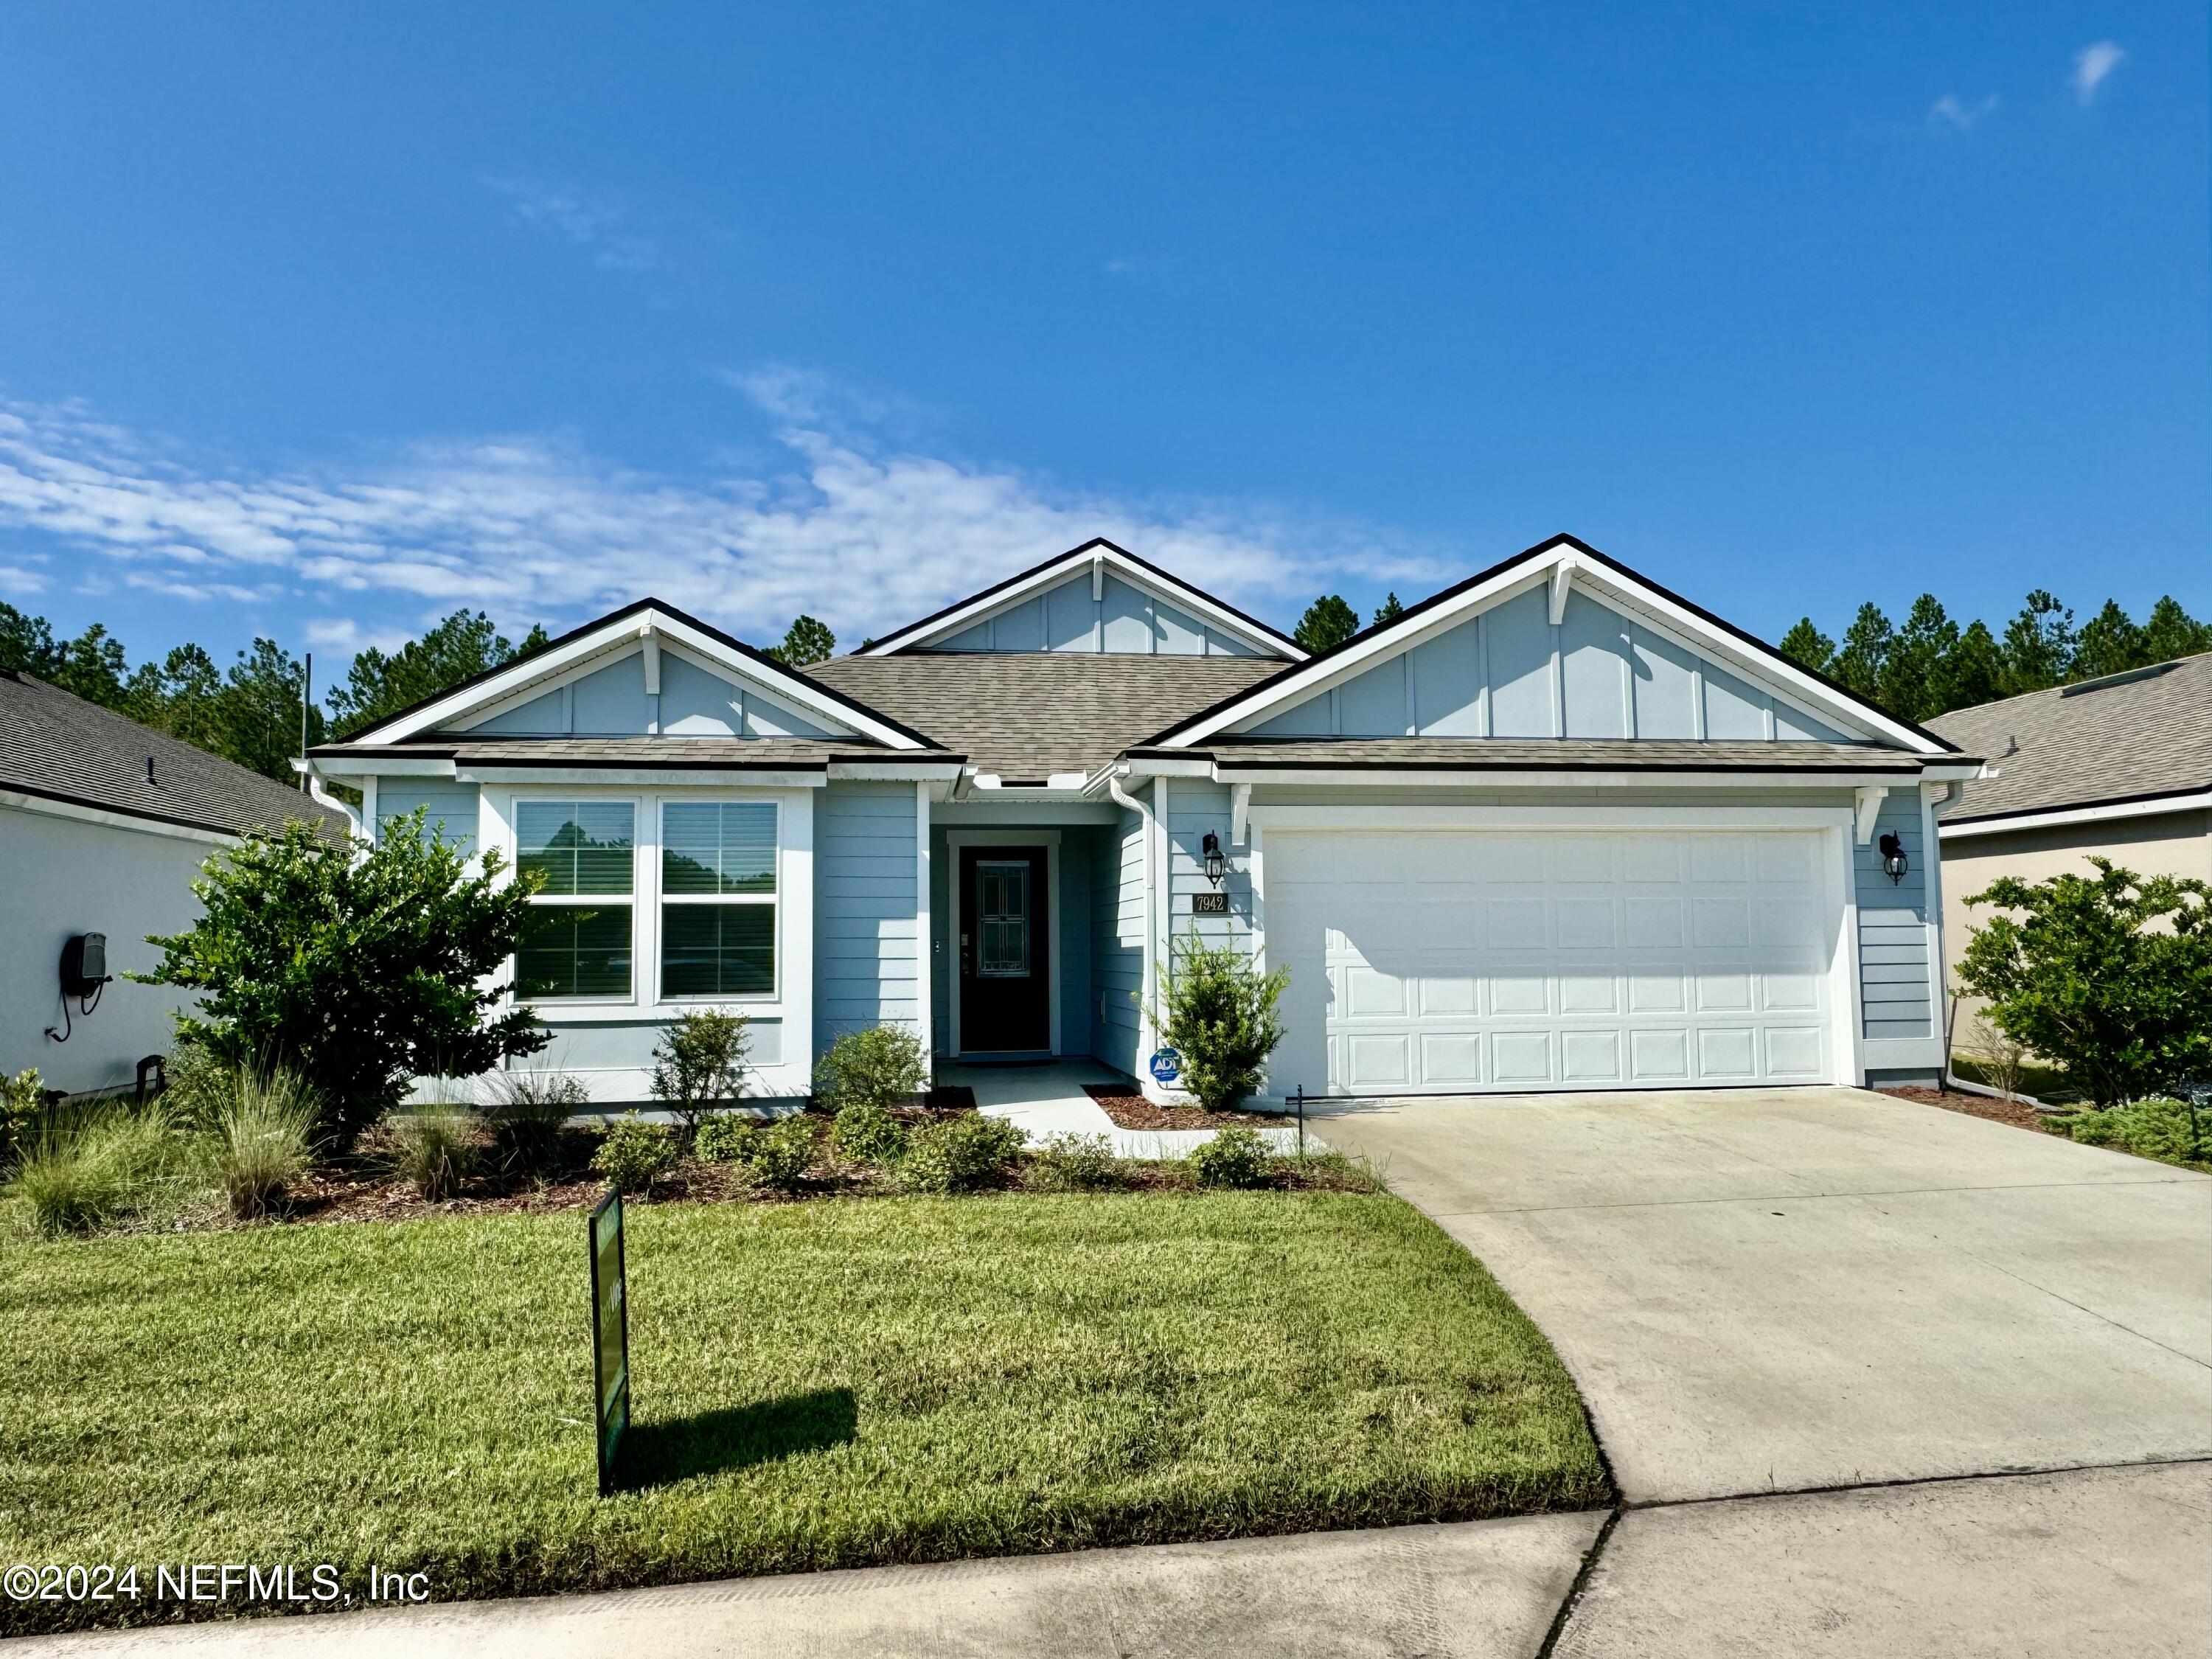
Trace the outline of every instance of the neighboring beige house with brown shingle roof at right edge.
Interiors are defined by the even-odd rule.
[[[2000,876],[2088,876],[2095,854],[2212,880],[2212,653],[1962,708],[1929,730],[1989,757],[1938,830],[1951,975],[1989,918],[1966,898]]]

